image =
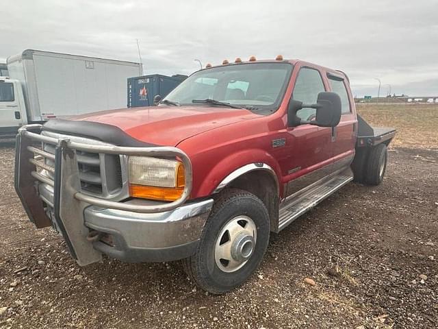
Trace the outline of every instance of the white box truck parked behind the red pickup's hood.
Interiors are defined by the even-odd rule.
[[[9,57],[7,64],[10,79],[0,78],[3,132],[53,117],[125,108],[127,78],[142,75],[136,62],[32,49]]]

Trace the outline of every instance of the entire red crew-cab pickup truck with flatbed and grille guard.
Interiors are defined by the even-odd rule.
[[[341,71],[237,58],[152,108],[22,127],[15,186],[79,265],[182,260],[224,293],[255,271],[271,232],[351,180],[379,184],[394,134],[358,117]]]

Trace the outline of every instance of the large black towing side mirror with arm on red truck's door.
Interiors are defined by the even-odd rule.
[[[315,108],[315,121],[305,121],[298,118],[296,112],[302,108]],[[341,97],[337,93],[319,93],[315,104],[303,104],[291,99],[287,109],[287,124],[289,126],[310,124],[319,127],[335,127],[341,121],[341,111]]]

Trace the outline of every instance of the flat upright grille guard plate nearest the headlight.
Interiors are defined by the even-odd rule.
[[[84,225],[83,209],[88,204],[75,199],[75,193],[81,191],[76,151],[68,149],[66,141],[61,141],[56,147],[55,168],[53,204],[57,226],[79,265],[99,262],[101,252],[86,239],[89,230]]]

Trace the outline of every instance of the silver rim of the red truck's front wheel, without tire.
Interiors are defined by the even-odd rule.
[[[253,256],[257,241],[257,227],[248,216],[237,216],[220,230],[214,245],[216,265],[231,273],[242,268]]]

